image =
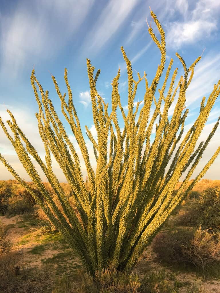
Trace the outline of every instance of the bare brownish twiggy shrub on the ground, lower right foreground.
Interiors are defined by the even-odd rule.
[[[204,276],[220,265],[220,233],[202,230],[160,232],[152,242],[153,251],[167,263],[193,265]]]

